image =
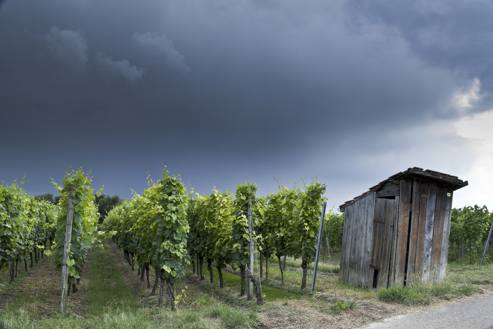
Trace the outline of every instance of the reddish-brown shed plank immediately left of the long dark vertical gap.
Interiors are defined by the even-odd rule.
[[[397,248],[395,255],[395,284],[399,286],[404,285],[412,186],[412,178],[405,178],[401,180],[401,192],[399,197],[399,225],[397,227]]]

